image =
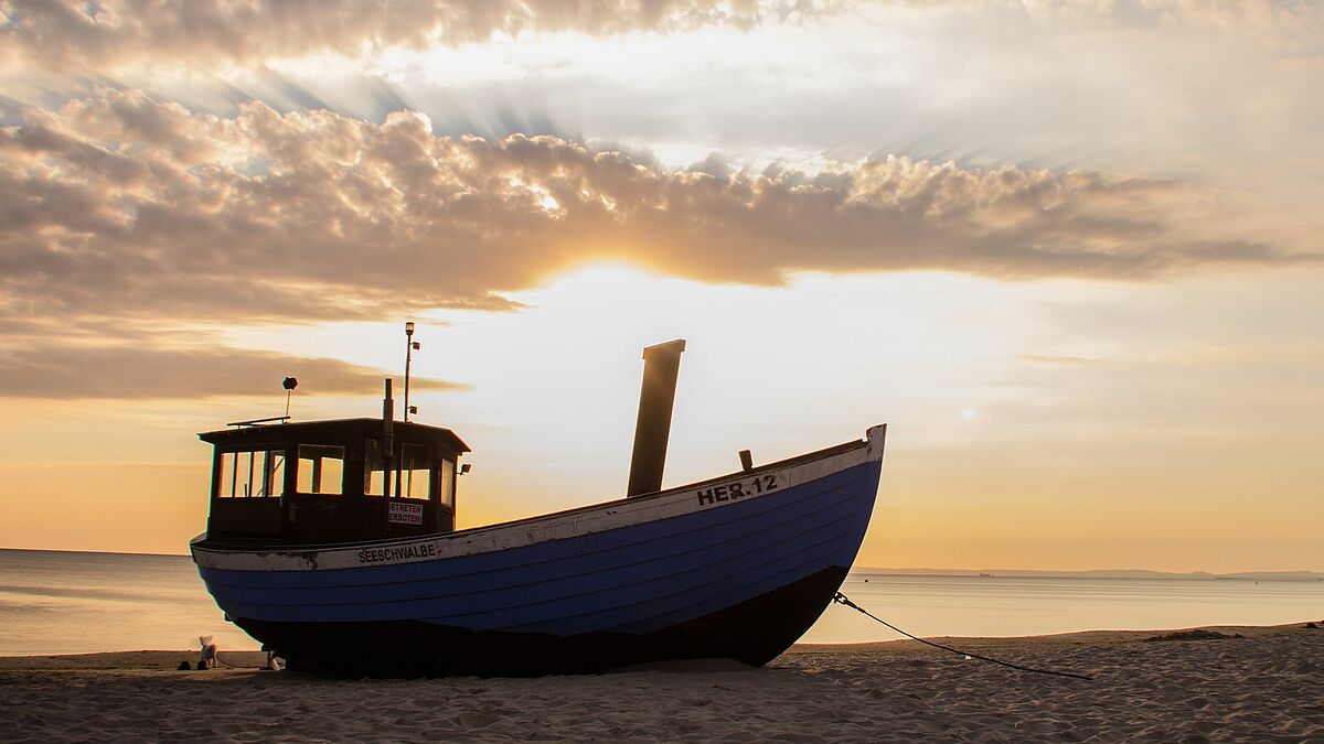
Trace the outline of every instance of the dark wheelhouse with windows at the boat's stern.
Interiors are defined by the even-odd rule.
[[[240,425],[213,445],[209,543],[324,544],[455,528],[450,429],[381,418]]]

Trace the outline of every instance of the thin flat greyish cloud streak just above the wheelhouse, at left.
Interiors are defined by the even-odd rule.
[[[299,379],[311,395],[372,393],[379,369],[335,359],[242,349],[162,349],[45,344],[0,349],[0,397],[189,398],[274,396],[281,380]],[[466,385],[414,379],[414,389],[455,391]]]

